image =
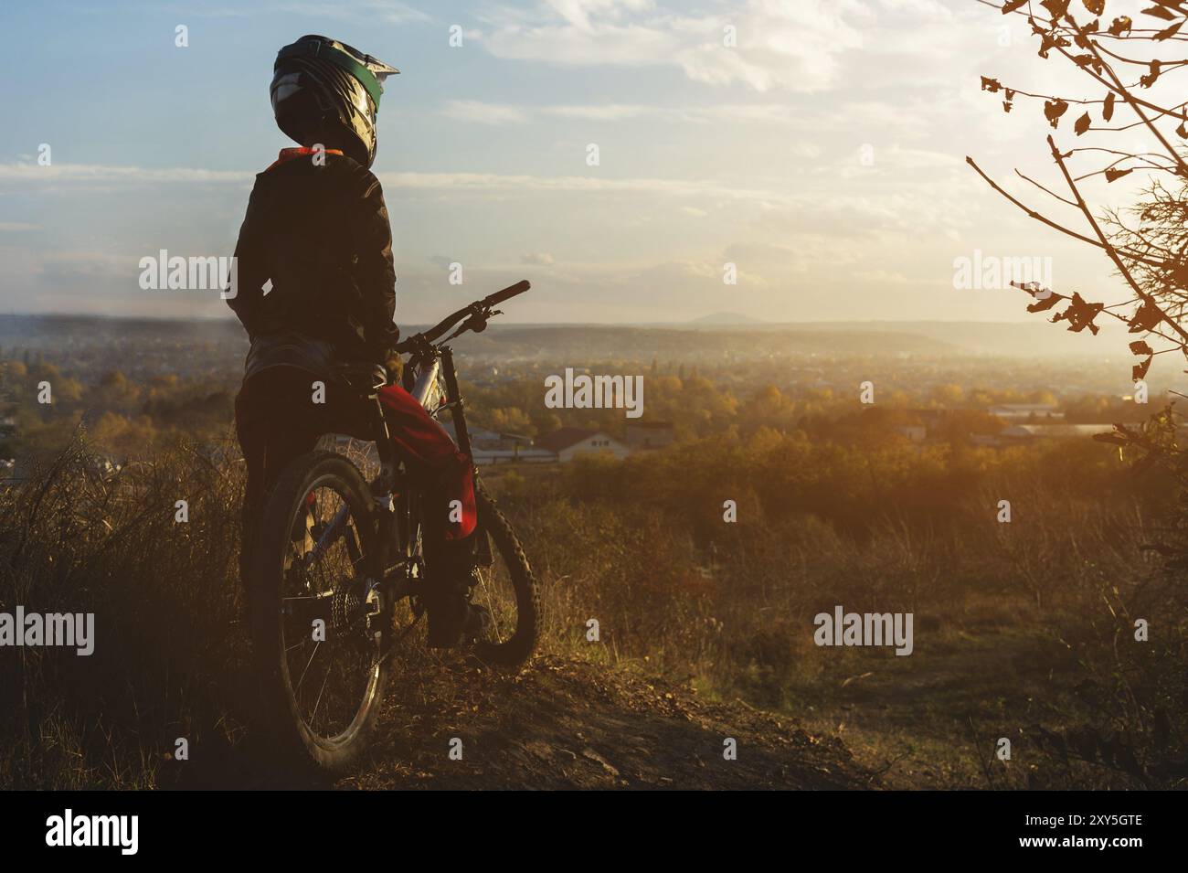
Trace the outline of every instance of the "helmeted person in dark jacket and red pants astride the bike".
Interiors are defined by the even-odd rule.
[[[228,295],[251,340],[235,398],[235,430],[247,463],[245,582],[255,521],[284,468],[323,434],[371,436],[368,401],[335,379],[334,365],[396,366],[392,230],[369,169],[381,82],[396,72],[321,36],[286,45],[273,67],[276,121],[299,147],[282,150],[255,177]],[[390,385],[379,398],[397,454],[424,495],[429,644],[455,646],[481,633],[488,620],[469,602],[475,582],[472,461],[406,391]]]

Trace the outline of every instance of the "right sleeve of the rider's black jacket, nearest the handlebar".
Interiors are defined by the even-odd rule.
[[[392,264],[392,226],[379,179],[362,170],[362,197],[352,210],[355,278],[359,284],[361,321],[368,353],[377,361],[387,358],[400,339],[396,316],[396,267]]]

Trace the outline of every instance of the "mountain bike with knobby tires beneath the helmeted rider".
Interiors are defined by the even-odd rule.
[[[487,321],[501,314],[498,304],[529,287],[520,281],[497,291],[397,347],[409,356],[403,386],[435,418],[451,416],[457,445],[467,456],[465,404],[447,343],[485,330]],[[349,458],[331,451],[293,461],[267,498],[249,586],[253,659],[268,732],[327,772],[346,768],[366,747],[390,662],[418,626],[432,584],[425,575],[421,499],[396,458],[378,397],[388,384],[387,371],[342,365],[339,375],[374,404],[368,407],[379,473],[367,482]],[[516,666],[536,647],[536,580],[516,532],[476,470],[474,481],[474,594],[492,621],[473,653],[487,664]]]

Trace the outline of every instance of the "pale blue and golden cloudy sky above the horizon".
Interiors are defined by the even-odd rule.
[[[965,163],[1042,204],[1013,169],[1050,179],[1044,135],[1073,135],[981,89],[1064,74],[977,0],[51,0],[4,4],[0,29],[0,311],[226,316],[217,292],[141,290],[139,261],[232,253],[254,173],[292,145],[268,83],[305,33],[402,70],[373,167],[398,323],[522,278],[512,322],[1038,318],[954,287],[978,252],[1119,293]]]

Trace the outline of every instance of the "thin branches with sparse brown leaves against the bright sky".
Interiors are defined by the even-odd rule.
[[[1178,49],[1188,42],[1188,34],[1181,33],[1188,7],[1182,0],[1152,0],[1139,21],[1117,15],[1107,23],[1104,15],[1111,0],[984,1],[1004,15],[1025,18],[1040,43],[1040,57],[1081,74],[1088,95],[1054,94],[981,77],[982,90],[1000,97],[1006,113],[1019,103],[1042,103],[1043,118],[1054,131],[1047,137],[1045,152],[1056,171],[1043,182],[1020,170],[1016,173],[1049,198],[1053,214],[1009,194],[973,158],[966,160],[1030,217],[1102,253],[1121,279],[1118,299],[1112,302],[1086,301],[1075,290],[1057,292],[1036,281],[1012,284],[1032,297],[1028,311],[1053,312],[1051,321],[1067,323],[1069,330],[1097,334],[1099,317],[1125,322],[1130,333],[1140,335],[1130,350],[1138,359],[1132,377],[1142,379],[1155,355],[1186,354],[1188,348],[1183,325],[1188,304],[1188,103],[1177,100],[1183,93],[1177,74],[1188,67],[1188,61],[1178,57]],[[1136,133],[1144,138],[1142,148],[1129,145]],[[1119,134],[1125,134],[1126,145],[1118,141]],[[1144,176],[1130,209],[1095,209],[1092,204],[1101,186],[1127,177],[1123,184],[1132,184]]]

